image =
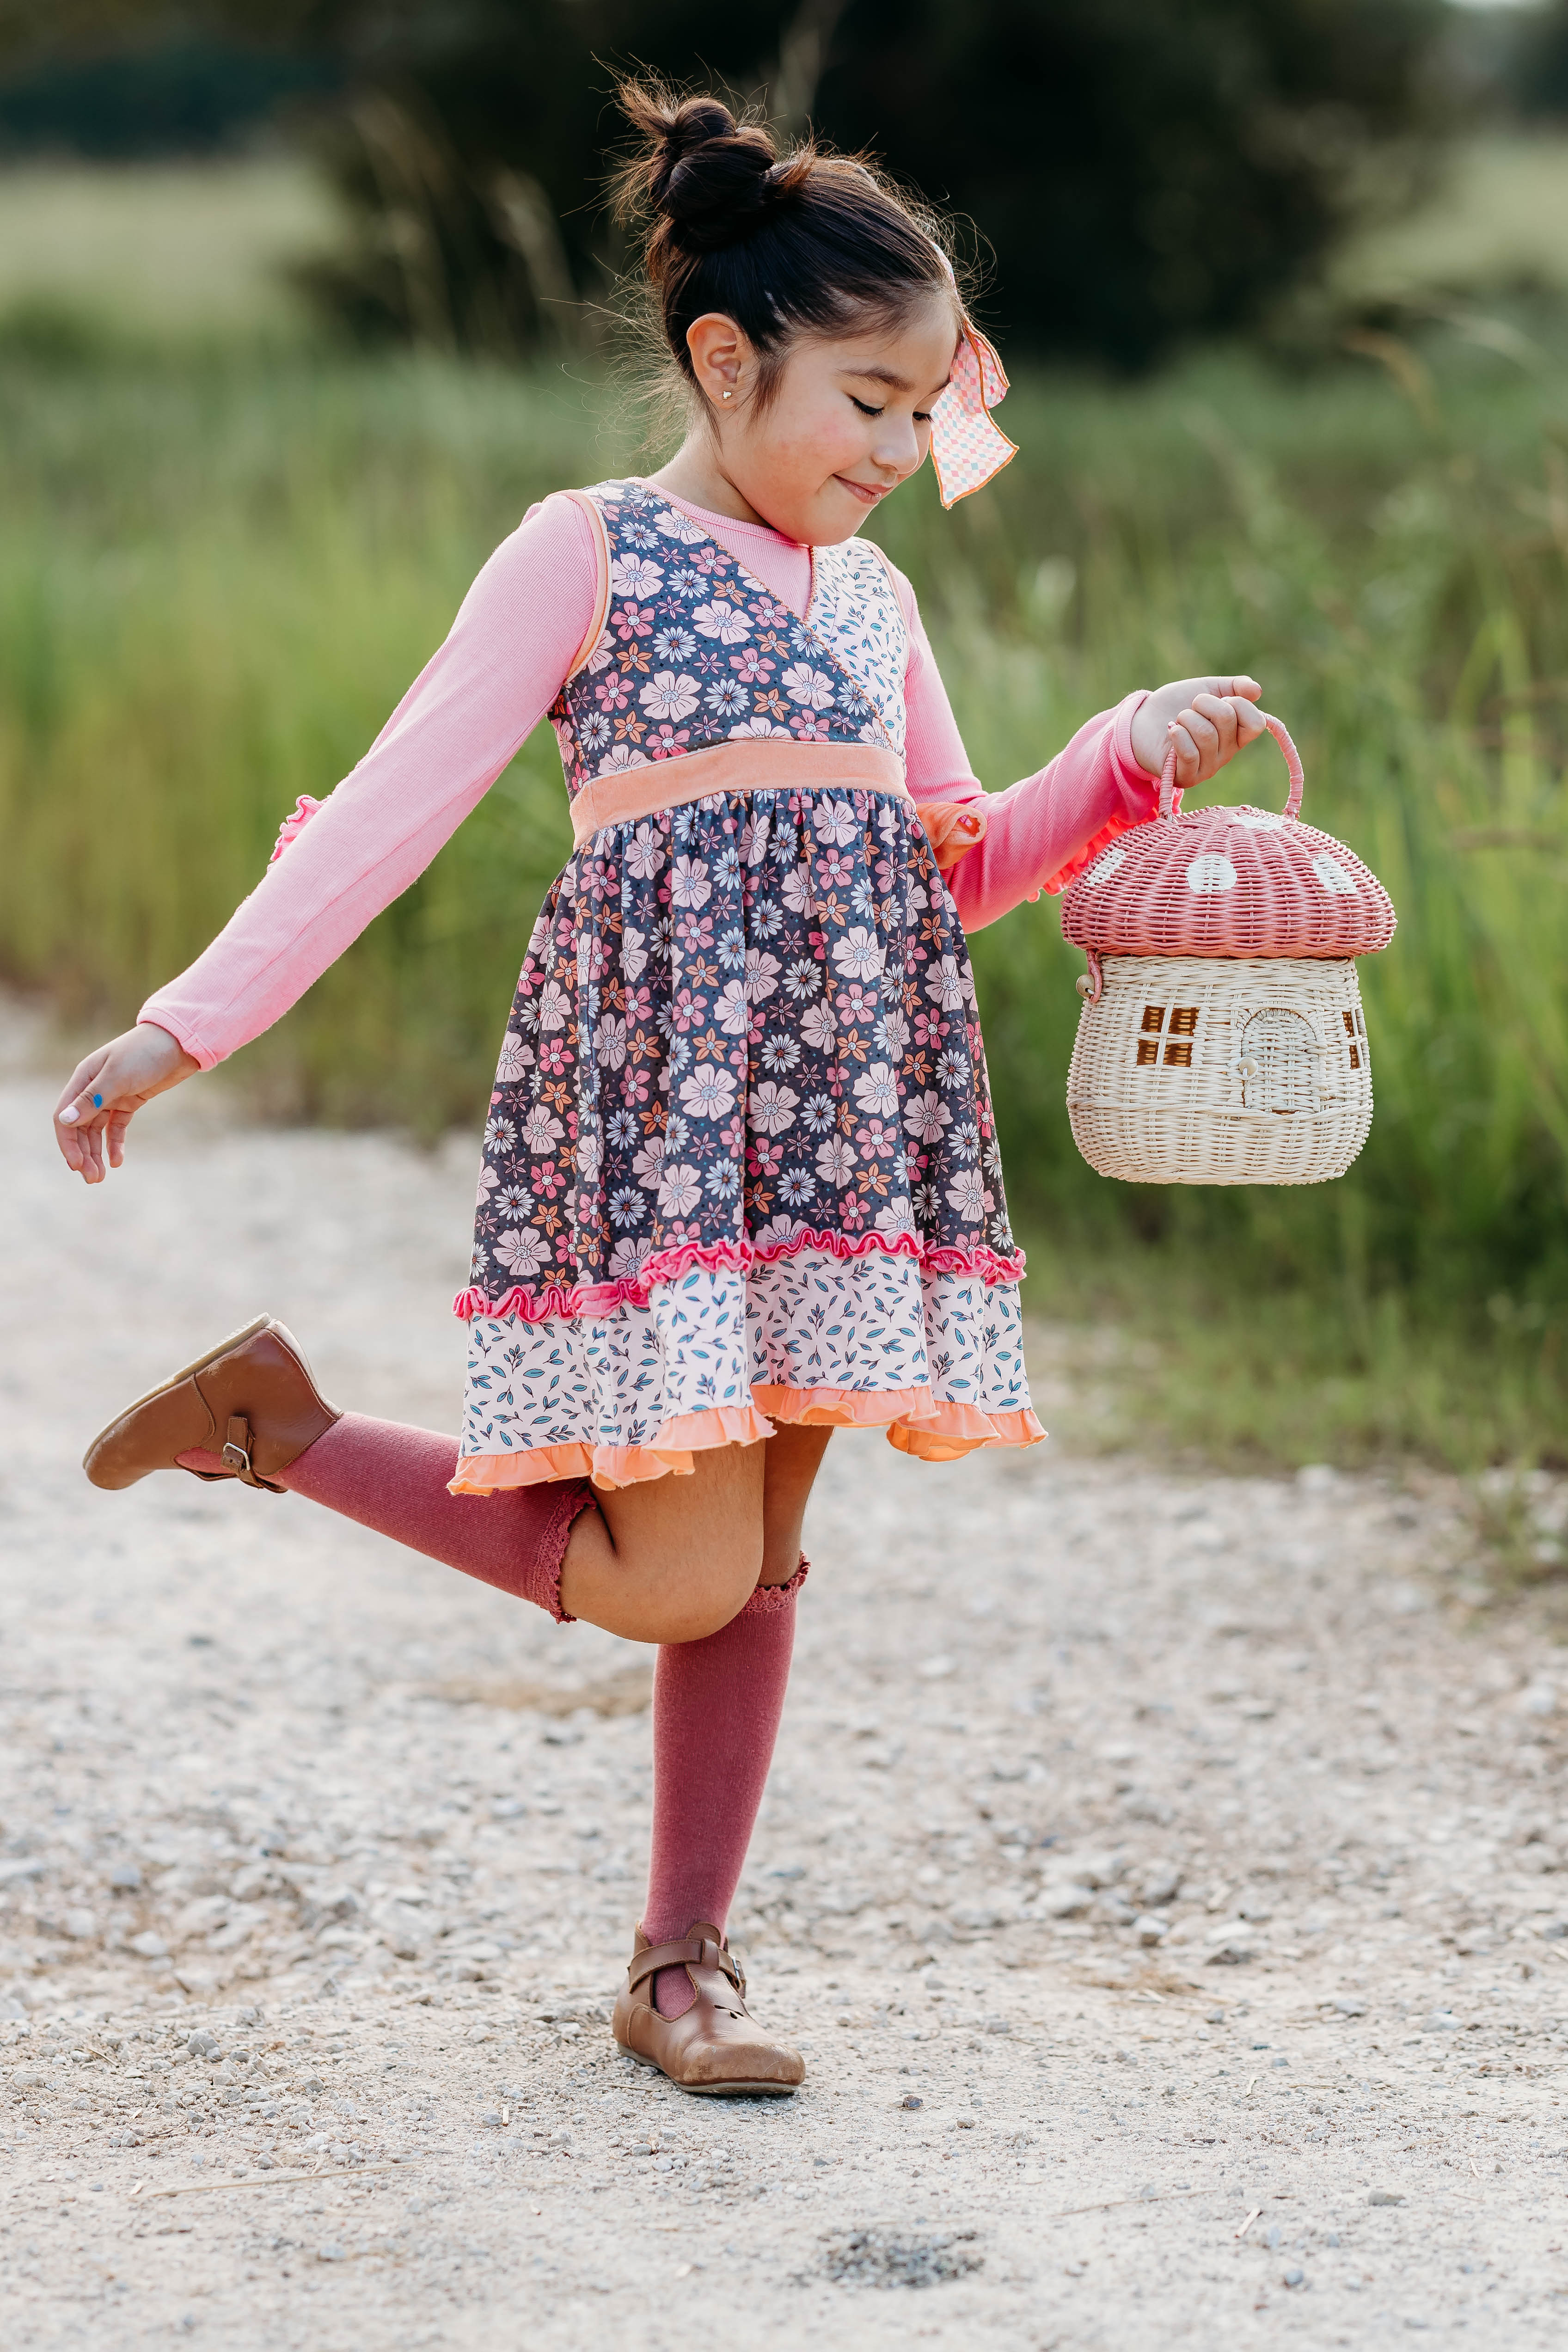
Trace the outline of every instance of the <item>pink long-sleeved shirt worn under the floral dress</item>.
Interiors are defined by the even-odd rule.
[[[755,522],[684,501],[783,604],[804,614],[811,550]],[[966,929],[1020,898],[1063,889],[1100,842],[1154,814],[1157,779],[1133,757],[1143,694],[1079,727],[1072,743],[1006,793],[971,774],[914,590],[905,668],[910,795],[983,804],[985,833],[947,873]],[[425,870],[484,797],[562,689],[597,612],[599,550],[576,501],[529,508],[463,597],[425,663],[350,776],[223,924],[214,943],[141,1007],[202,1070],[280,1021],[360,931]]]

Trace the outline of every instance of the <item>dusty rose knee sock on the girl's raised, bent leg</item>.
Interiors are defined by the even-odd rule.
[[[411,1552],[536,1602],[569,1625],[562,1559],[571,1522],[592,1501],[588,1479],[505,1486],[491,1496],[447,1494],[456,1458],[456,1439],[435,1430],[343,1414],[277,1472],[277,1484],[407,1543]],[[193,1470],[221,1468],[209,1454],[181,1461]]]

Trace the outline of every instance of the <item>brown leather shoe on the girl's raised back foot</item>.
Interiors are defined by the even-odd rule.
[[[188,1468],[179,1454],[202,1451],[221,1454],[228,1468],[193,1477],[237,1477],[282,1494],[273,1477],[341,1418],[317,1395],[294,1334],[259,1315],[127,1404],[87,1446],[82,1470],[94,1486],[134,1486],[148,1470]]]

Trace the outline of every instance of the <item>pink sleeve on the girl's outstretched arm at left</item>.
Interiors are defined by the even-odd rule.
[[[202,1070],[280,1021],[425,870],[534,734],[597,593],[588,515],[571,499],[545,499],[501,541],[353,774],[139,1018],[179,1037]]]

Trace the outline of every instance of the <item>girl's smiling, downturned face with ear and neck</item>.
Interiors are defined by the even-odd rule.
[[[686,348],[712,433],[691,433],[654,482],[823,548],[858,532],[924,463],[957,318],[952,299],[933,289],[898,325],[830,341],[802,336],[762,409],[757,350],[731,318],[710,310],[693,320]]]

